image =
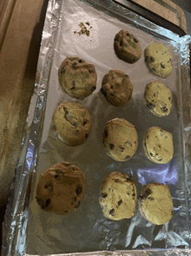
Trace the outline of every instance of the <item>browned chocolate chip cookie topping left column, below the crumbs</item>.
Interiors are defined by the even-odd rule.
[[[63,91],[72,98],[84,99],[96,89],[95,66],[79,57],[66,57],[58,71]]]

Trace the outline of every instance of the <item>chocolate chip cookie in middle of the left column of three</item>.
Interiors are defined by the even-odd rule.
[[[56,108],[53,124],[58,138],[73,146],[86,141],[92,126],[89,111],[74,102],[65,102]]]

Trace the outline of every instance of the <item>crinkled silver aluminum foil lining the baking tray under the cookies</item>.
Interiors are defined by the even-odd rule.
[[[81,33],[81,23],[88,34]],[[142,50],[154,41],[168,46],[173,56],[171,76],[161,78],[150,73],[143,54],[135,64],[118,59],[113,42],[121,29],[139,38]],[[3,255],[191,254],[190,42],[189,36],[179,37],[111,0],[49,1],[27,136],[3,224],[7,233]],[[95,65],[96,91],[82,101],[66,95],[58,82],[58,68],[68,56],[82,57]],[[134,85],[133,96],[125,107],[109,104],[100,92],[102,77],[116,68],[127,73]],[[167,84],[174,98],[173,109],[165,118],[155,117],[143,104],[145,86],[154,79]],[[52,129],[56,106],[67,101],[84,105],[92,117],[88,140],[76,147],[63,145]],[[102,131],[112,118],[126,118],[138,132],[139,146],[128,162],[114,161],[103,148]],[[174,136],[175,155],[166,165],[151,163],[142,151],[143,134],[153,125]],[[35,199],[40,174],[63,161],[79,166],[86,177],[82,205],[68,216],[44,212]],[[174,202],[173,218],[163,226],[155,226],[143,219],[138,209],[132,219],[104,218],[98,202],[100,186],[107,174],[116,171],[133,175],[138,194],[147,183],[168,185]]]

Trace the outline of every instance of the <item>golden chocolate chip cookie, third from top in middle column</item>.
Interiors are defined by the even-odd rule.
[[[116,161],[129,160],[138,145],[135,126],[123,118],[110,120],[103,132],[103,144],[109,157]]]

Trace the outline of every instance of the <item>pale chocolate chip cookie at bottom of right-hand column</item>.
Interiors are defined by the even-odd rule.
[[[163,225],[173,217],[173,200],[168,185],[157,182],[144,185],[140,198],[140,211],[149,222]]]

